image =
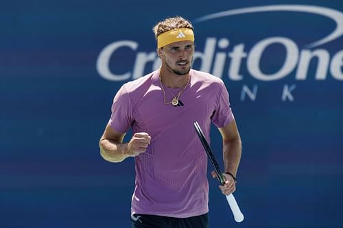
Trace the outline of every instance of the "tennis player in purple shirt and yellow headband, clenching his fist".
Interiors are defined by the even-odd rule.
[[[220,190],[234,192],[241,140],[228,92],[221,79],[191,69],[189,21],[166,18],[154,34],[162,66],[117,92],[99,142],[101,155],[109,162],[134,157],[132,227],[209,227],[207,157],[192,123],[198,121],[207,140],[211,122],[220,130],[226,173]],[[133,136],[123,143],[130,127]]]

